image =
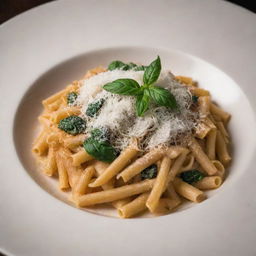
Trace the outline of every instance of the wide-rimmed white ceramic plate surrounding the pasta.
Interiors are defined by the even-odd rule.
[[[0,27],[0,250],[255,255],[255,27],[256,16],[245,9],[203,0],[57,1]],[[226,182],[205,202],[157,218],[120,220],[63,203],[30,154],[41,99],[98,64],[148,63],[157,54],[232,113]]]

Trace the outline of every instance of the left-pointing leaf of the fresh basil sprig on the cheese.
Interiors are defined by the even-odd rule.
[[[121,95],[137,95],[141,92],[140,85],[133,79],[117,79],[111,83],[105,84],[103,89]]]

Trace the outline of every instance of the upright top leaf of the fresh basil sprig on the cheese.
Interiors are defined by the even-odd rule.
[[[159,77],[161,72],[161,61],[159,56],[148,67],[146,67],[143,82],[146,85],[153,84]]]

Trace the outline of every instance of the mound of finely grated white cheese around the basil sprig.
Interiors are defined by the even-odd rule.
[[[141,85],[143,74],[143,71],[114,70],[84,80],[77,104],[81,106],[81,116],[87,121],[86,132],[94,128],[107,128],[111,131],[111,144],[119,150],[124,149],[133,136],[139,138],[143,150],[148,150],[159,144],[168,146],[180,143],[191,134],[197,123],[198,113],[190,110],[192,99],[189,90],[176,81],[170,71],[162,71],[155,85],[168,89],[174,95],[179,111],[152,103],[145,116],[138,117],[135,111],[135,97],[102,90],[103,85],[120,78],[131,78]],[[97,116],[86,116],[88,104],[102,98],[105,101]]]

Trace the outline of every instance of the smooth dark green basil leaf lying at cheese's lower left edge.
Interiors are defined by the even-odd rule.
[[[106,141],[97,141],[90,137],[84,141],[85,151],[95,159],[103,162],[112,162],[117,157],[115,149]]]

